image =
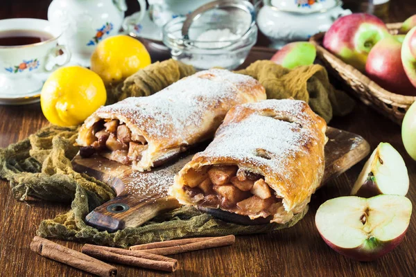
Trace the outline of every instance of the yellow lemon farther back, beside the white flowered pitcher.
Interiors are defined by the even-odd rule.
[[[150,63],[146,47],[128,35],[107,37],[91,56],[91,69],[105,84],[120,82]]]

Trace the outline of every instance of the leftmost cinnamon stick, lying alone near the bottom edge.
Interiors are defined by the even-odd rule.
[[[66,265],[70,265],[71,267],[76,267],[77,269],[81,269],[98,276],[117,276],[116,267],[38,236],[33,238],[33,241],[31,242],[31,250],[35,251],[40,256],[62,262]]]

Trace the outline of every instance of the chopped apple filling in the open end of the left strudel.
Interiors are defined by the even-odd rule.
[[[98,152],[107,159],[130,165],[140,161],[148,143],[144,136],[133,135],[127,125],[117,119],[105,119],[94,124],[87,137],[87,144],[80,148],[80,156],[91,157]]]

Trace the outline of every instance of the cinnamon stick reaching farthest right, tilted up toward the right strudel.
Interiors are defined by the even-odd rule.
[[[214,247],[224,247],[226,245],[231,245],[235,242],[236,238],[234,235],[226,235],[225,237],[210,238],[208,240],[202,240],[199,242],[192,242],[184,245],[177,245],[174,247],[163,247],[155,249],[146,249],[141,251],[146,251],[148,253],[153,253],[157,255],[173,255],[177,253],[184,253],[202,249],[209,249]]]

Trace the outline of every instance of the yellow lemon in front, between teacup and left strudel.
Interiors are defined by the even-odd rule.
[[[59,126],[83,123],[106,100],[103,80],[81,66],[62,67],[53,72],[40,94],[44,116]]]

